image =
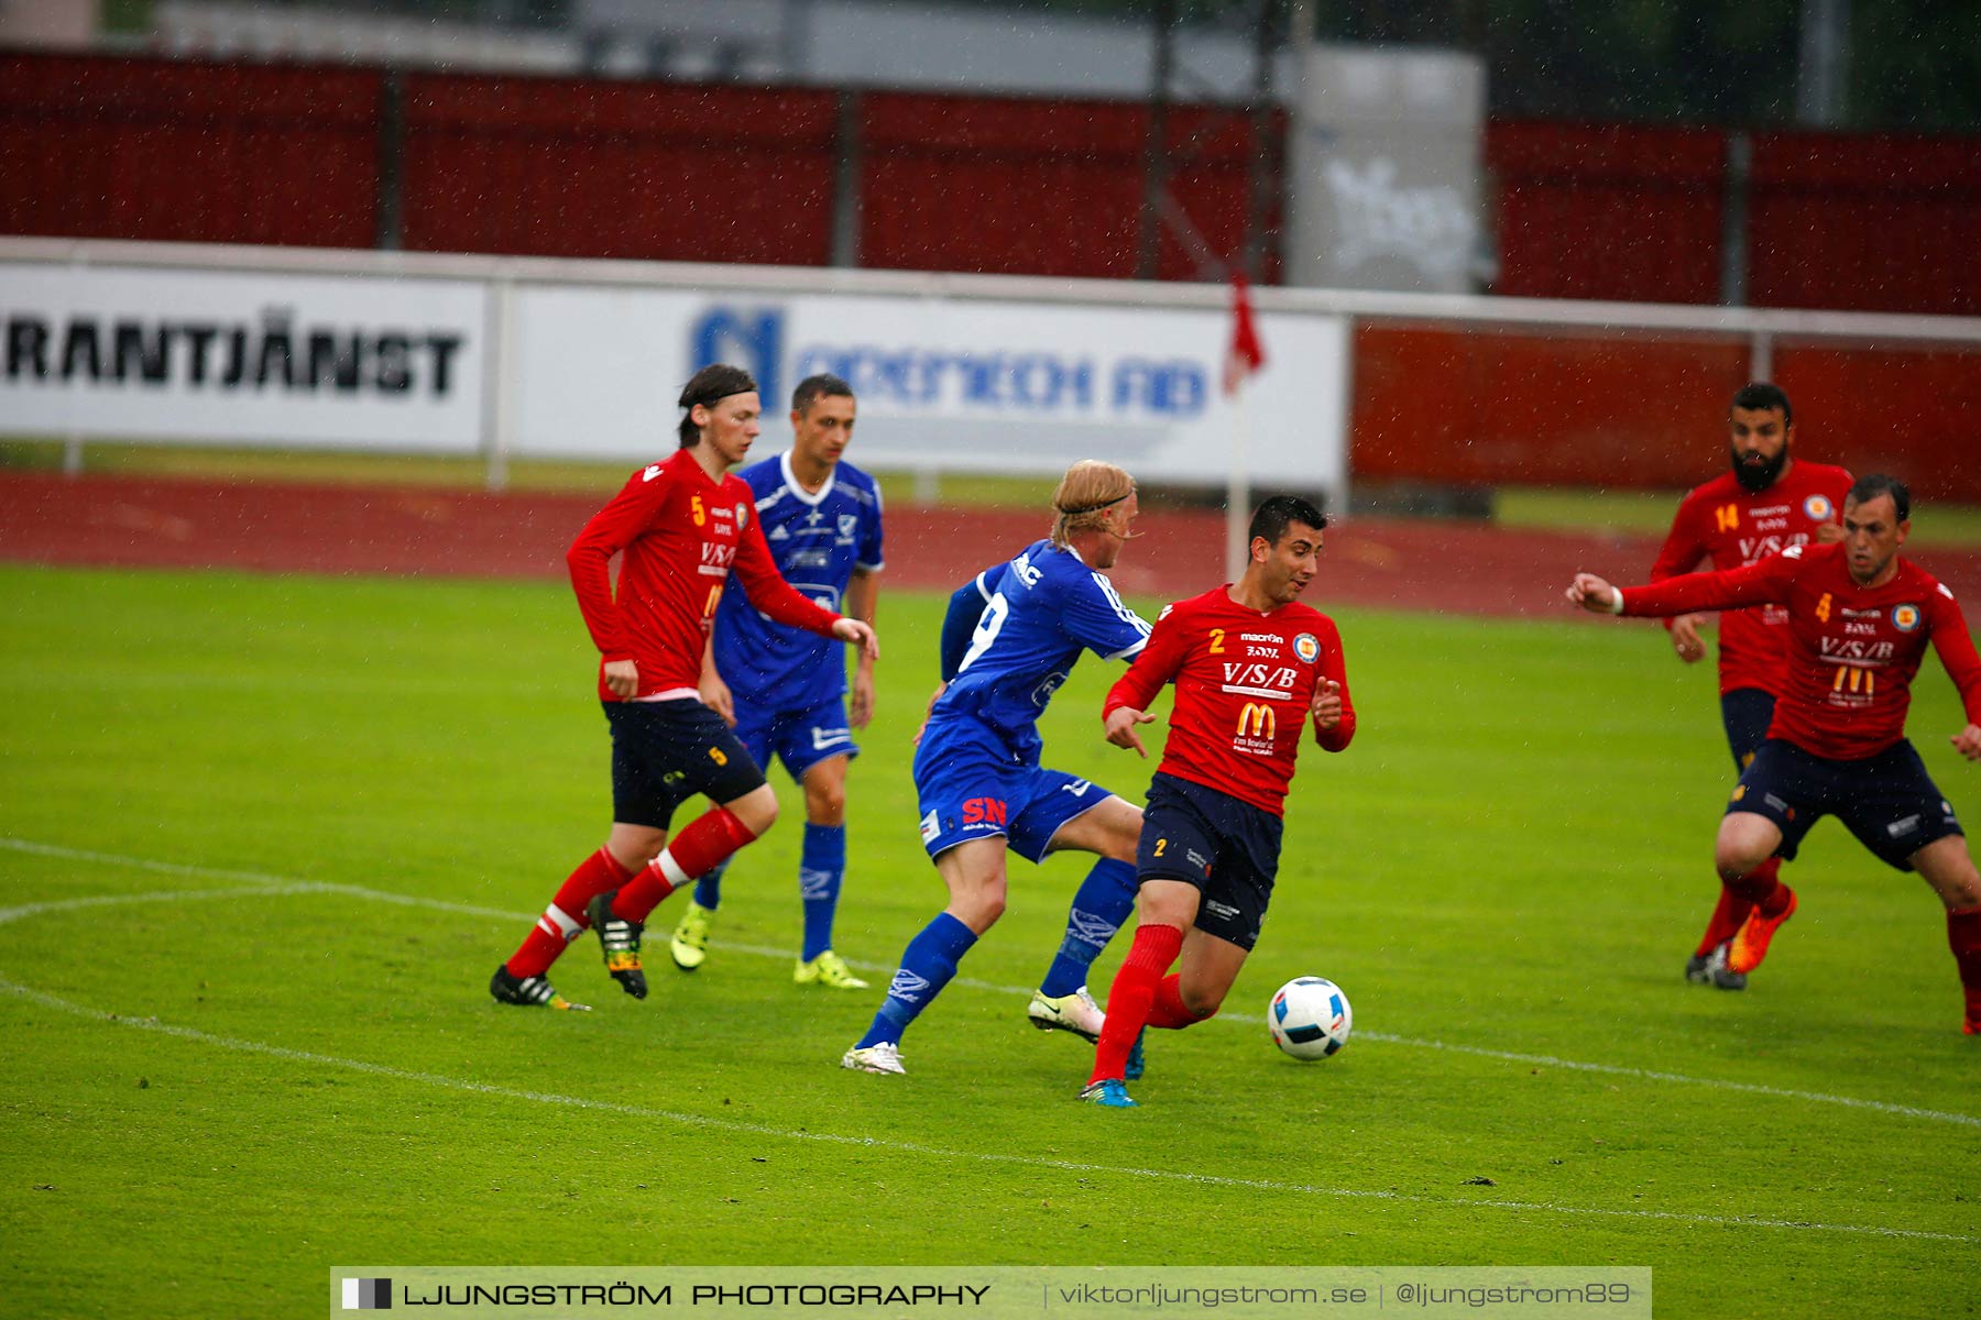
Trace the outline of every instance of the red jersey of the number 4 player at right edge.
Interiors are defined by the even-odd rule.
[[[1862,588],[1840,544],[1791,546],[1747,568],[1634,586],[1622,596],[1622,612],[1638,615],[1759,604],[1781,606],[1789,619],[1789,663],[1769,738],[1832,760],[1886,750],[1906,736],[1912,677],[1928,641],[1959,689],[1967,720],[1981,724],[1981,657],[1967,619],[1953,592],[1904,558],[1890,582]]]

